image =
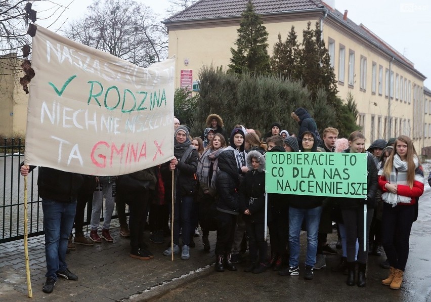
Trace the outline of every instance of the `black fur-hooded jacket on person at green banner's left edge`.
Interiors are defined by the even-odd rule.
[[[254,170],[251,159],[257,158],[261,163]],[[243,220],[250,223],[265,222],[265,156],[258,151],[250,151],[247,154],[247,167],[249,171],[245,174],[239,187],[239,207],[244,213],[248,209],[251,215],[243,215]],[[251,199],[253,198],[253,199]]]

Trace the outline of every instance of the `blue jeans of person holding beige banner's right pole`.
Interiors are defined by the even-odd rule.
[[[183,229],[183,244],[190,245],[190,228],[192,214],[193,196],[181,196],[177,191],[174,204],[174,243],[180,242],[180,228]]]

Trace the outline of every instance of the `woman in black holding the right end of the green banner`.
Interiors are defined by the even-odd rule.
[[[348,138],[349,147],[344,152],[365,153],[365,137],[360,131],[352,132]],[[377,167],[371,154],[367,153],[367,197],[361,198],[339,198],[342,220],[346,227],[346,248],[347,248],[347,285],[355,285],[355,257],[356,240],[359,242],[358,251],[358,280],[357,285],[364,287],[365,273],[368,261],[368,236],[371,220],[375,207],[375,195],[377,191]],[[366,207],[364,208],[364,205]],[[366,215],[366,217],[364,217]],[[366,222],[366,232],[364,233],[364,221]],[[365,250],[364,250],[365,249]]]

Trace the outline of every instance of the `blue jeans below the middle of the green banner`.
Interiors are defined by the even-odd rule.
[[[316,264],[317,232],[319,231],[321,213],[322,206],[311,209],[289,207],[289,266],[296,267],[299,265],[299,253],[301,250],[299,235],[304,219],[306,220],[307,230],[307,256],[305,264],[309,266]]]

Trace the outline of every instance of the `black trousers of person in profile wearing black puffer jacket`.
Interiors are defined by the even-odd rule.
[[[225,212],[217,213],[217,241],[215,242],[215,254],[230,253],[236,228],[237,215]]]

